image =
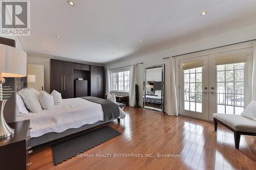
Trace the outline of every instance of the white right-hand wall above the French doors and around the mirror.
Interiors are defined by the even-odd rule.
[[[256,39],[256,24],[244,25],[244,27],[233,28],[233,30],[226,30],[218,32],[216,34],[208,34],[195,38],[194,40],[189,40],[189,42],[183,42],[179,45],[173,45],[162,50],[155,52],[146,53],[140,56],[129,57],[129,59],[124,61],[112,62],[105,65],[105,69],[111,69],[115,67],[130,65],[132,63],[143,62],[143,64],[138,65],[139,70],[139,104],[143,105],[142,94],[143,94],[143,80],[144,80],[144,67],[166,64],[165,66],[165,96],[167,96],[167,85],[168,85],[168,59],[163,60],[164,57],[170,57],[200,50],[205,50],[212,47],[218,47],[222,45],[247,41]],[[165,111],[166,111],[166,101],[165,98]]]

